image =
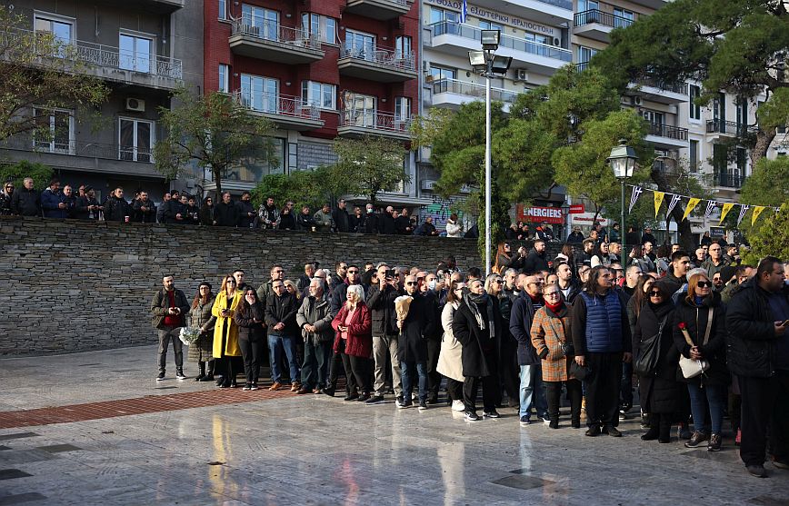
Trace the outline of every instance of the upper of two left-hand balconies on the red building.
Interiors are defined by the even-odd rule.
[[[276,23],[254,26],[239,19],[233,23],[228,43],[235,55],[279,64],[309,64],[324,57],[317,35]]]

